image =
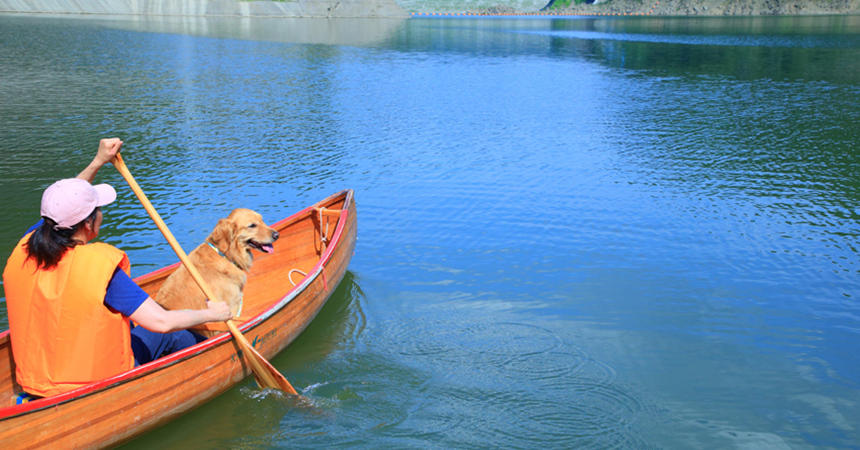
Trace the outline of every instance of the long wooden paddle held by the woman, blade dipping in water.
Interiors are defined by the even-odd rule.
[[[197,285],[200,286],[200,289],[203,291],[203,294],[206,295],[206,298],[210,300],[217,300],[215,295],[212,293],[212,289],[209,288],[209,285],[203,280],[203,277],[200,276],[200,272],[191,264],[191,261],[188,259],[188,255],[185,254],[185,251],[182,250],[182,247],[179,246],[179,242],[176,241],[176,238],[173,237],[173,234],[167,228],[167,225],[161,220],[161,216],[158,215],[158,211],[152,206],[152,203],[149,202],[149,199],[146,198],[146,194],[143,193],[143,190],[134,180],[134,177],[131,176],[131,172],[129,172],[128,167],[125,165],[125,162],[122,160],[122,157],[119,153],[116,154],[116,157],[112,161],[116,170],[119,171],[120,175],[125,178],[125,181],[131,187],[131,190],[134,191],[134,194],[137,195],[137,199],[140,200],[140,203],[143,205],[143,208],[146,209],[146,212],[149,213],[149,217],[152,218],[152,221],[155,222],[155,225],[158,227],[161,234],[167,239],[167,243],[170,244],[170,247],[173,248],[173,251],[176,252],[176,255],[179,256],[179,260],[182,261],[182,264],[188,269],[188,273],[191,274],[191,277],[194,278],[194,281],[197,282]],[[245,355],[245,358],[248,361],[248,364],[251,366],[251,370],[254,374],[254,379],[257,380],[257,384],[263,388],[272,388],[284,391],[288,394],[298,395],[298,392],[293,388],[289,381],[278,372],[278,369],[275,369],[269,361],[266,361],[266,358],[263,358],[259,352],[245,339],[245,336],[239,332],[239,329],[236,328],[236,325],[232,320],[227,320],[227,328],[230,329],[230,333],[233,335],[233,339],[236,340],[236,343],[239,345],[240,352]]]

